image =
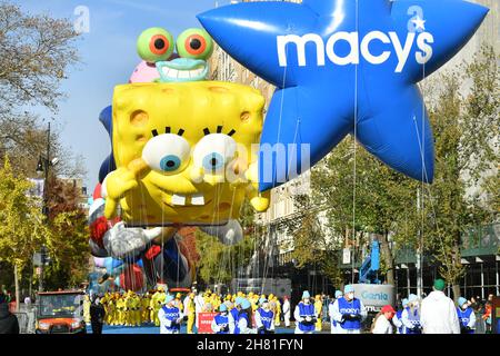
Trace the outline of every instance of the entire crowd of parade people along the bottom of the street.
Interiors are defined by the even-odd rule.
[[[371,320],[372,334],[474,334],[478,322],[492,329],[492,298],[486,303],[478,298],[460,297],[456,304],[444,294],[446,283],[437,279],[433,290],[420,298],[410,294],[402,298],[397,310],[391,305],[381,308]],[[9,312],[9,296],[0,294],[0,334],[16,332],[16,316]],[[360,334],[366,330],[368,312],[347,285],[334,297],[304,290],[301,300],[292,308],[290,298],[254,293],[220,295],[211,290],[187,295],[170,294],[158,287],[144,294],[114,291],[104,295],[86,295],[83,317],[92,333],[101,334],[104,324],[110,326],[160,327],[161,334],[179,334],[186,324],[188,334],[199,333],[200,316],[214,313],[210,328],[214,334],[273,334],[277,327],[293,327],[296,334],[314,334],[330,325],[331,334]],[[292,322],[293,320],[293,322]],[[328,329],[328,328],[327,328]],[[17,326],[19,333],[19,325]]]

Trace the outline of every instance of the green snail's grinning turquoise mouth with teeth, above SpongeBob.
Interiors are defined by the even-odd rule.
[[[209,66],[202,59],[176,58],[157,62],[161,82],[199,81],[207,78]]]

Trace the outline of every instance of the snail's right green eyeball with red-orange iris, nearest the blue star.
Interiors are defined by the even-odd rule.
[[[188,29],[177,39],[177,52],[183,58],[208,59],[213,51],[210,34],[202,29]]]

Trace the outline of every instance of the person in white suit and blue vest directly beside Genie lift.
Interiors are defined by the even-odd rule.
[[[354,297],[352,285],[343,288],[343,296],[333,303],[332,314],[340,324],[338,334],[361,334],[362,322],[368,316],[361,299]]]

